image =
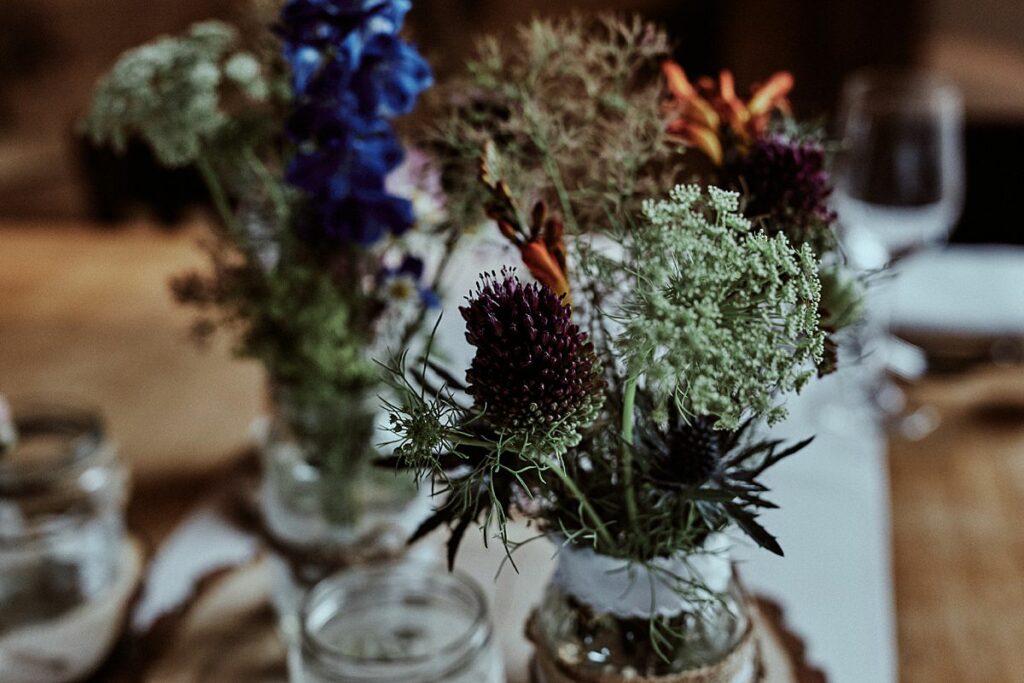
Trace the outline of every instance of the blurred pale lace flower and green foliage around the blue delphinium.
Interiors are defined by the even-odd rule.
[[[383,305],[373,273],[394,245],[329,260],[297,237],[308,217],[283,177],[290,84],[266,31],[279,9],[267,3],[251,36],[206,22],[125,52],[81,127],[95,143],[123,152],[138,138],[161,164],[198,168],[221,225],[209,271],[176,279],[175,296],[199,309],[200,336],[229,331],[237,353],[259,360],[301,412],[377,383],[369,356]]]

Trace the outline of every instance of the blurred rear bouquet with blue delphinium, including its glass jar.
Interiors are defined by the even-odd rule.
[[[415,496],[370,466],[374,358],[415,342],[458,233],[437,173],[395,129],[432,83],[400,34],[409,8],[289,0],[251,27],[196,25],[126,52],[83,121],[97,143],[140,138],[201,172],[219,218],[211,268],[173,290],[201,336],[226,328],[265,368],[264,516],[310,554],[375,552],[368,533]]]

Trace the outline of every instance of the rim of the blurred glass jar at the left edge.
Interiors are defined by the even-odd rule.
[[[46,435],[65,437],[62,447],[30,462],[0,458],[0,490],[20,490],[59,480],[106,453],[106,430],[100,412],[91,407],[52,400],[15,401],[12,423],[18,442]],[[14,445],[16,451],[19,446]]]

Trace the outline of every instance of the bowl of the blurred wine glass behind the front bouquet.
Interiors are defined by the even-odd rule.
[[[964,103],[940,76],[848,79],[836,202],[855,265],[879,268],[945,241],[964,207]]]

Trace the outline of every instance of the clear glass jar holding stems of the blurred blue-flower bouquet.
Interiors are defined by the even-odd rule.
[[[300,404],[271,390],[260,505],[274,546],[272,598],[289,639],[302,596],[340,569],[394,559],[430,510],[410,475],[374,465],[377,392]],[[424,551],[420,551],[424,552]]]

